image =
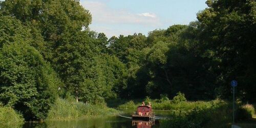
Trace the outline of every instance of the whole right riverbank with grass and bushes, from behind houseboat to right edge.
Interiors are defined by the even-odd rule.
[[[130,100],[118,105],[120,110],[136,110],[144,101],[151,102],[154,110],[170,111],[171,119],[161,120],[163,127],[230,127],[232,121],[232,103],[216,99],[211,101],[186,101],[184,94],[178,93],[172,100],[162,96],[161,99]],[[238,123],[255,125],[251,104],[238,104],[236,110]]]

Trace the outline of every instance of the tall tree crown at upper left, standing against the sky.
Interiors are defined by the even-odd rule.
[[[33,45],[47,47],[38,50],[48,61],[53,59],[53,51],[61,44],[65,33],[72,34],[82,30],[82,27],[88,29],[92,21],[90,12],[73,0],[7,0],[0,2],[0,13],[14,16],[31,28],[32,36],[44,43]]]

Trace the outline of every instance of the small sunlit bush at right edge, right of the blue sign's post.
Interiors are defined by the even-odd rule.
[[[245,104],[239,107],[237,110],[237,119],[245,120],[251,119],[252,115],[255,113],[253,105]]]

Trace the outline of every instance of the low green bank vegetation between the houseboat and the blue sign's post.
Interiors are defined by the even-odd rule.
[[[226,127],[231,121],[230,105],[223,100],[181,101],[152,100],[154,110],[169,110],[172,119],[160,120],[160,127]],[[141,103],[133,101],[119,105],[119,109],[134,109]]]

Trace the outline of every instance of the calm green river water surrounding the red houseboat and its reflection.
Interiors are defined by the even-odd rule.
[[[43,123],[32,123],[27,122],[24,127],[160,127],[159,120],[170,118],[169,112],[167,111],[155,111],[156,120],[154,121],[139,121],[132,120],[131,112],[126,112],[127,114],[105,116],[100,118],[82,119],[82,120],[69,120],[69,121],[46,121]],[[128,114],[129,113],[129,114]]]

